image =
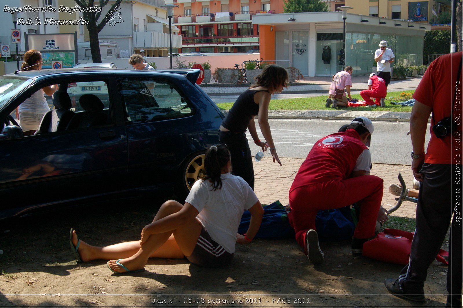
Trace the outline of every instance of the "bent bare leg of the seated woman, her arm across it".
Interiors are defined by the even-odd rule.
[[[165,202],[159,209],[159,212],[156,214],[154,221],[180,211],[181,207],[182,205],[177,201],[169,200]],[[155,253],[162,245],[164,245],[164,243],[166,243],[172,234],[174,235],[175,242],[177,243],[181,252],[186,256],[190,256],[194,250],[194,247],[196,246],[200,232],[201,223],[198,219],[194,219],[173,231],[151,234],[148,240],[141,247],[139,247],[139,250],[133,256],[124,258],[123,260],[119,261],[119,263],[124,264],[124,266],[129,270],[142,269],[147,263],[148,258],[150,258],[153,253]],[[109,266],[114,271],[121,273],[125,272],[124,269],[120,268],[119,265],[116,264],[116,260],[110,260]]]

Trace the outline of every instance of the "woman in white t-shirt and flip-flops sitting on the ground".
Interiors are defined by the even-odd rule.
[[[250,186],[230,174],[230,152],[224,145],[206,151],[205,179],[194,183],[185,205],[164,202],[145,226],[140,241],[96,247],[70,234],[78,261],[110,260],[108,268],[124,273],[144,270],[148,258],[184,258],[204,267],[230,264],[235,243],[248,244],[259,230],[263,208]],[[251,213],[245,236],[237,234],[244,210]]]

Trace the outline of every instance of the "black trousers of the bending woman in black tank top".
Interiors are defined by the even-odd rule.
[[[254,168],[252,155],[246,134],[222,132],[219,130],[219,142],[226,145],[232,159],[232,175],[241,176],[254,190]]]

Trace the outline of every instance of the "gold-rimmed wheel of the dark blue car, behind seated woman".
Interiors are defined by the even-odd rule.
[[[195,153],[185,160],[179,169],[177,179],[174,185],[174,193],[185,201],[194,183],[206,175],[204,169],[204,153]]]

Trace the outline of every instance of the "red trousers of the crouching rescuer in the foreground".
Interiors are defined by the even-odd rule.
[[[378,176],[357,176],[343,181],[332,180],[294,189],[289,193],[291,212],[288,218],[296,232],[297,242],[307,253],[305,237],[307,230],[315,230],[317,212],[345,207],[355,202],[360,205],[360,218],[354,237],[373,237],[382,191],[383,181]]]

